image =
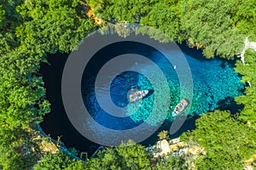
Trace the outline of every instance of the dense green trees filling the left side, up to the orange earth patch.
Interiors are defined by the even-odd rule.
[[[71,51],[93,28],[77,0],[0,2],[0,168],[31,166],[26,129],[50,111],[38,75],[45,54]]]

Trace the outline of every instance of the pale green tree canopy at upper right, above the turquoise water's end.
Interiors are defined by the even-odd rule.
[[[232,59],[241,52],[246,35],[232,20],[234,8],[246,5],[243,1],[181,1],[182,30],[191,47],[203,48],[207,58],[220,55]]]

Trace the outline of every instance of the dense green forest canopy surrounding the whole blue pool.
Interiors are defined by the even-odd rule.
[[[256,42],[256,3],[253,0],[2,0],[0,2],[0,169],[28,169],[38,161],[33,151],[31,127],[49,113],[44,82],[38,74],[47,54],[68,53],[91,31],[90,6],[96,17],[112,23],[133,22],[153,26],[176,42],[203,49],[207,58],[234,59],[246,37]],[[246,65],[236,61],[236,71],[247,82],[245,95],[236,98],[243,109],[234,118],[227,111],[207,113],[197,121],[194,139],[207,149],[197,160],[204,168],[241,168],[255,155],[256,53],[247,50]],[[209,123],[207,123],[209,122]],[[214,140],[214,142],[212,142]],[[131,163],[135,161],[135,163]],[[166,163],[164,163],[166,162]],[[56,164],[62,167],[55,167]],[[49,154],[35,166],[40,169],[183,168],[169,157],[150,164],[143,146],[109,148],[90,161],[74,161],[66,154]],[[49,166],[49,167],[47,167]],[[116,166],[116,167],[115,167]],[[109,167],[110,168],[110,167]]]

